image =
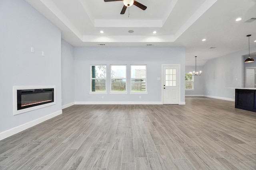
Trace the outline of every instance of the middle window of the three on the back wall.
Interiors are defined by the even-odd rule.
[[[126,92],[126,65],[111,65],[111,92]]]

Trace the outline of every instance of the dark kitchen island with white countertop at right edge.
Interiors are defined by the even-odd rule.
[[[235,107],[256,112],[256,88],[236,88]]]

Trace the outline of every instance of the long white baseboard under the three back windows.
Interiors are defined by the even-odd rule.
[[[75,102],[75,104],[162,104],[162,102]]]

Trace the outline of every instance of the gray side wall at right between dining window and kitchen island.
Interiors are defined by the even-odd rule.
[[[252,53],[256,47],[251,48]],[[244,58],[248,49],[231,53],[204,64],[204,95],[234,99],[237,87],[244,87]]]

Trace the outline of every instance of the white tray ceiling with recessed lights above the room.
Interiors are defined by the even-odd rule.
[[[256,46],[256,20],[245,22],[256,18],[256,0],[137,0],[147,9],[132,5],[124,15],[122,1],[26,1],[58,26],[62,38],[73,46],[183,46],[186,65],[194,65],[194,56],[198,65],[204,65],[209,59],[248,49],[248,34],[252,34],[250,47]],[[242,20],[235,21],[238,17]]]

